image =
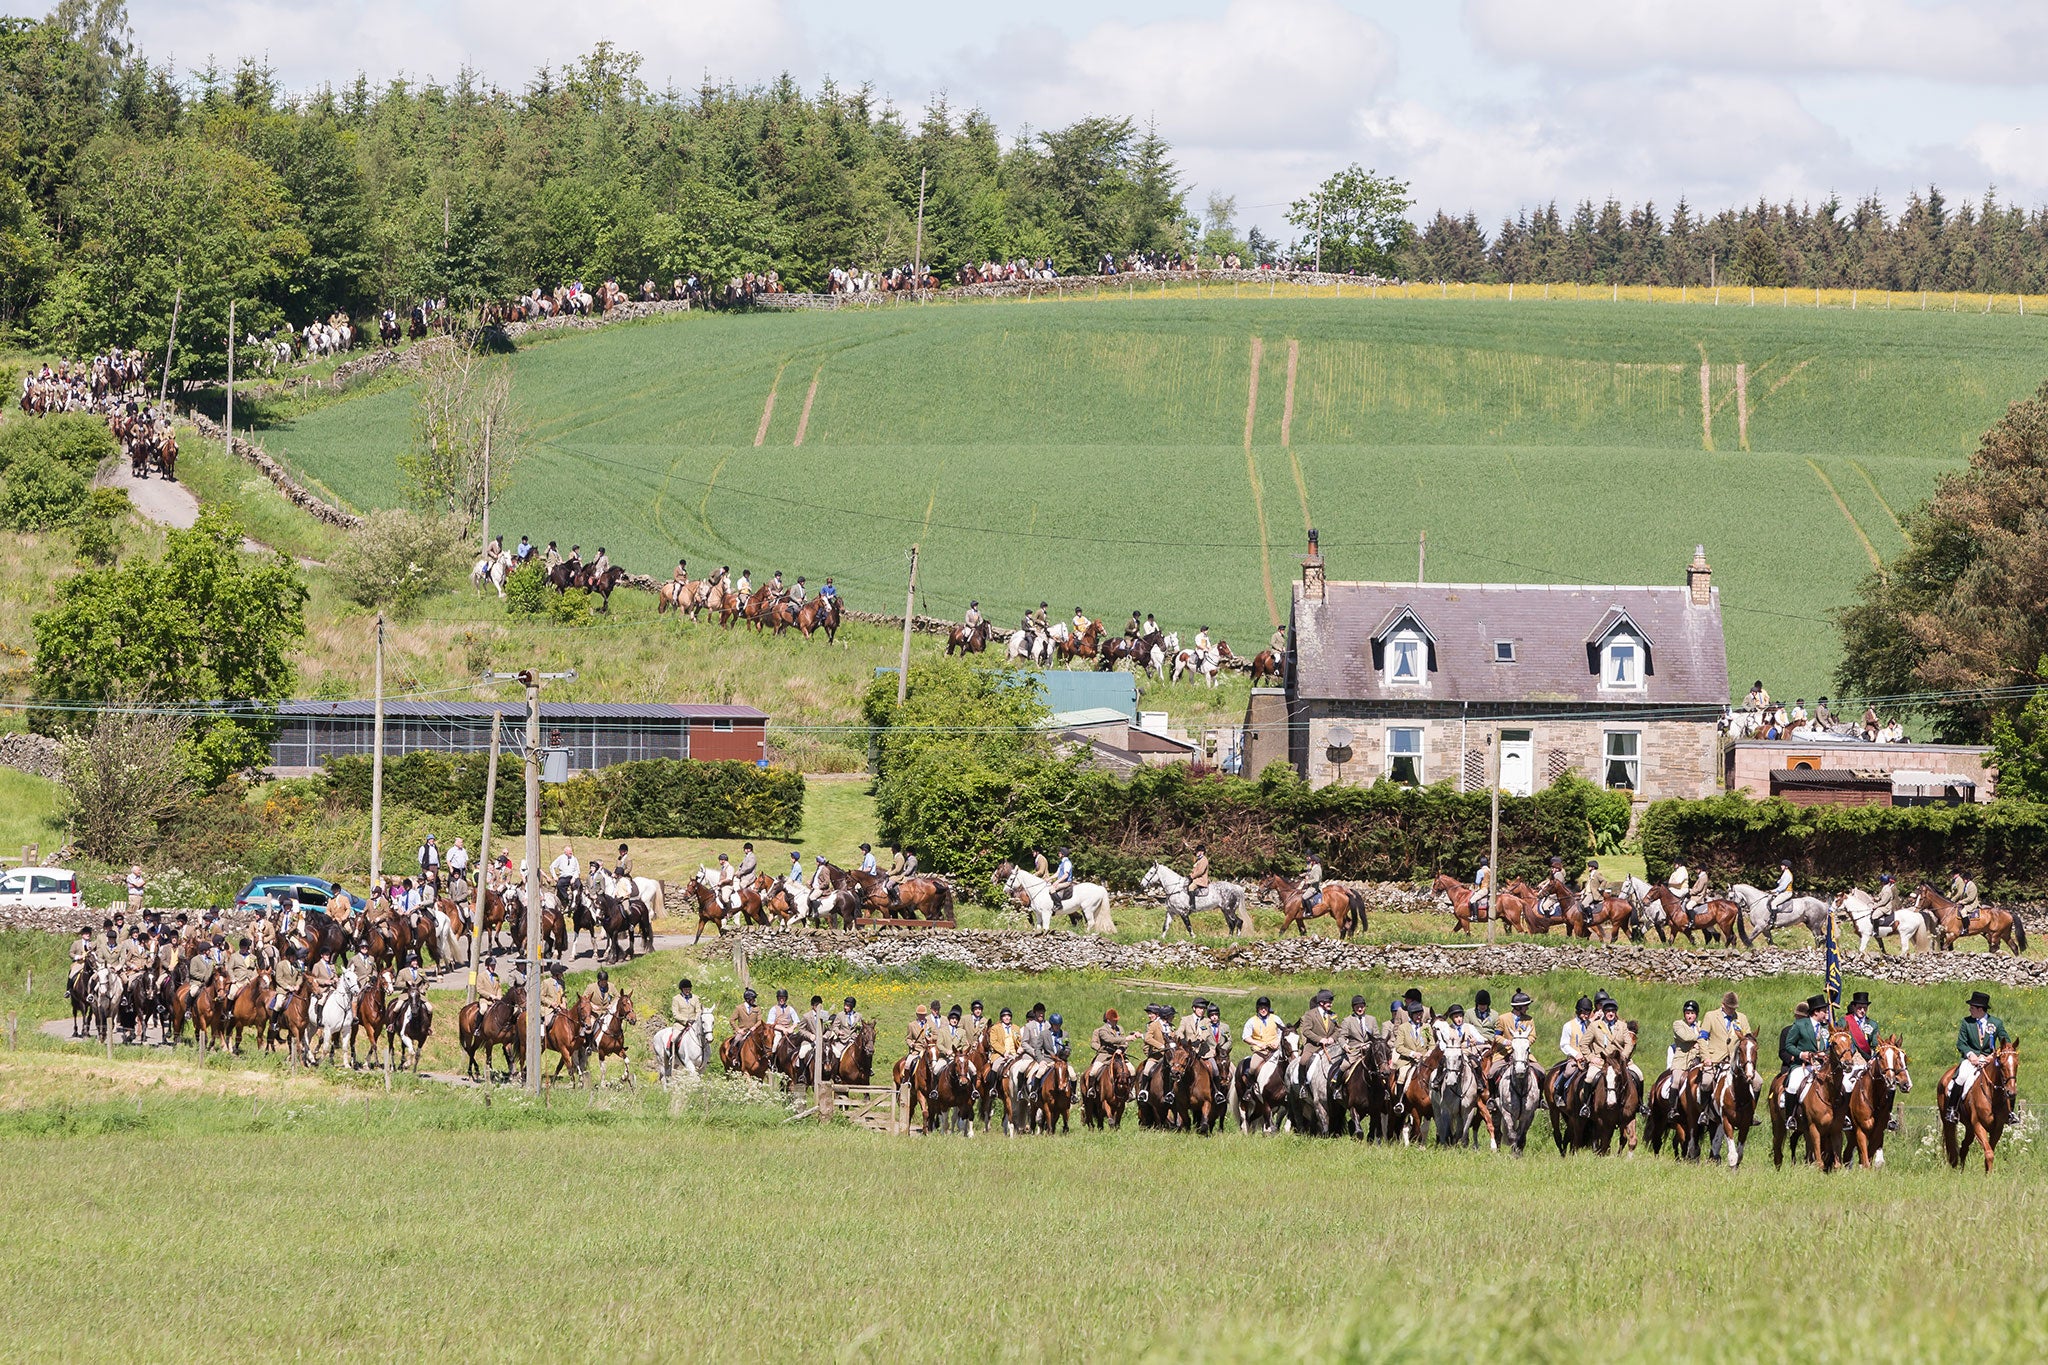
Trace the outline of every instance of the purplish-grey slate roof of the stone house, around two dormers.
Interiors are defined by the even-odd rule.
[[[1423,686],[1389,686],[1374,636],[1411,614],[1430,634]],[[1602,688],[1593,643],[1628,618],[1649,643],[1645,686]],[[1516,643],[1495,663],[1495,641]],[[1294,585],[1294,696],[1348,702],[1571,702],[1726,706],[1729,655],[1720,591],[1692,606],[1686,587],[1544,583],[1325,583],[1309,602]]]

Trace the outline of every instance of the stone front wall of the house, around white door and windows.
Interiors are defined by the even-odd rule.
[[[1309,784],[1331,782],[1372,784],[1386,772],[1386,731],[1419,729],[1421,780],[1454,782],[1460,790],[1485,790],[1491,772],[1487,735],[1493,720],[1462,720],[1458,716],[1364,716],[1362,706],[1311,702],[1309,714]],[[1337,729],[1352,733],[1350,757],[1331,759],[1329,737]],[[1667,796],[1714,796],[1720,790],[1718,735],[1712,720],[1630,720],[1626,716],[1532,720],[1507,729],[1528,729],[1534,749],[1534,786],[1554,782],[1563,772],[1575,772],[1589,782],[1606,778],[1606,733],[1640,731],[1638,802]]]

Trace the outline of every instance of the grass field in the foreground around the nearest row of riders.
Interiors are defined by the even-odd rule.
[[[39,1017],[61,941],[0,935],[0,980],[29,960],[23,1013]],[[664,954],[623,976],[645,1007],[680,968]],[[688,970],[729,1007],[729,964]],[[1163,995],[1094,974],[848,980],[774,962],[756,980],[856,990],[885,1054],[934,995],[1044,999],[1069,1027]],[[1200,988],[1272,988],[1294,1013],[1315,984]],[[1405,982],[1329,984],[1384,1001]],[[1425,990],[1468,1001],[1477,984]],[[1593,978],[1524,984],[1550,1031]],[[1608,984],[1649,1029],[1677,1005],[1675,988]],[[1810,986],[1753,982],[1745,1007],[1776,1027]],[[1966,990],[1878,990],[1917,1103]],[[2023,1040],[2048,1023],[2032,993],[1997,999]],[[1763,1130],[1733,1175],[1128,1124],[905,1140],[784,1126],[727,1083],[485,1103],[264,1060],[104,1062],[33,1036],[0,1060],[0,1238],[20,1250],[0,1353],[211,1357],[209,1306],[233,1285],[233,1338],[258,1359],[539,1359],[561,1342],[643,1359],[2038,1359],[2038,1144],[2019,1130],[1991,1179],[1956,1175],[1923,1142],[1929,1115],[1905,1117],[1884,1173],[1837,1177],[1772,1171]],[[1978,1283],[1937,1273],[1958,1257]]]

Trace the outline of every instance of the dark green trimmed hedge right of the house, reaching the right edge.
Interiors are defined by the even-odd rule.
[[[1683,862],[1720,886],[1769,886],[1778,862],[1815,892],[1872,888],[1890,872],[1905,886],[1948,884],[1964,868],[1991,900],[2048,898],[2048,804],[1796,806],[1743,792],[1659,800],[1642,812],[1642,860],[1653,878]]]

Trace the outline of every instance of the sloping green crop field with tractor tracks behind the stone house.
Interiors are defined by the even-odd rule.
[[[1675,583],[1704,542],[1735,690],[1812,696],[1827,612],[2048,375],[2036,329],[1186,297],[621,325],[512,362],[537,450],[494,528],[643,571],[834,573],[874,610],[922,540],[934,614],[1139,608],[1239,649],[1284,612],[1307,524],[1333,577],[1413,575],[1423,530],[1452,581]],[[344,399],[266,444],[352,505],[391,503],[410,403]]]

